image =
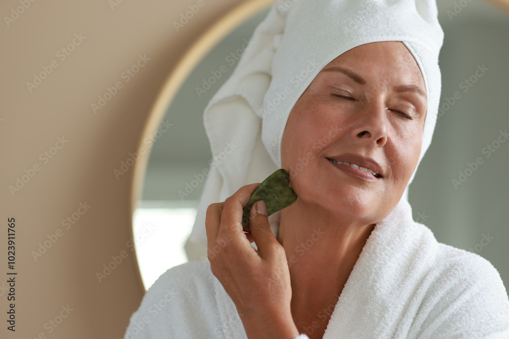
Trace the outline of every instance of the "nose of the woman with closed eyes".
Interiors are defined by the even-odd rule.
[[[355,115],[357,124],[352,130],[354,139],[361,139],[366,143],[376,142],[378,147],[382,147],[387,142],[388,121],[387,111],[382,102],[375,102],[365,105],[358,114]]]

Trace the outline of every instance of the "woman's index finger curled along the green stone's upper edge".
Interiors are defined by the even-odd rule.
[[[243,186],[224,201],[219,234],[228,233],[232,237],[245,238],[244,232],[242,231],[242,209],[259,185],[260,182]],[[219,236],[224,236],[225,234]]]

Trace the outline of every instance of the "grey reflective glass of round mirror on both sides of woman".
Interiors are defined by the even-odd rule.
[[[509,17],[484,2],[468,2],[461,10],[454,0],[437,3],[445,34],[439,58],[442,93],[433,142],[409,191],[413,218],[439,242],[488,259],[507,289],[509,180],[501,174],[509,159],[509,142],[503,143],[509,138]],[[187,261],[183,246],[212,158],[203,111],[237,66],[244,39],[268,11],[247,20],[208,53],[181,86],[160,127],[172,125],[154,136],[142,201],[133,216],[146,289],[168,268]],[[477,158],[482,163],[475,167]]]

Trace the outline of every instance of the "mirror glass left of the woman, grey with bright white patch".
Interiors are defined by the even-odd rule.
[[[136,256],[145,289],[168,268],[188,261],[184,244],[212,160],[203,112],[232,74],[254,28],[268,12],[266,8],[247,19],[203,58],[152,134],[142,201],[133,214]]]

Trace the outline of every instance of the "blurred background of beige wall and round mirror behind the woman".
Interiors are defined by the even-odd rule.
[[[0,213],[16,220],[0,281],[17,273],[16,331],[0,337],[123,337],[144,291],[187,261],[212,158],[203,110],[271,2],[197,3],[0,4]],[[409,200],[414,220],[488,259],[507,288],[509,4],[438,7],[440,117]],[[2,312],[8,293],[0,283]]]

